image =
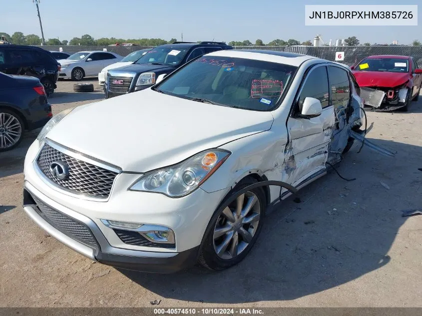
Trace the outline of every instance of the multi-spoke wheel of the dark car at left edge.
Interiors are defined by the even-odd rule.
[[[0,152],[16,147],[23,138],[23,129],[19,115],[0,108]]]

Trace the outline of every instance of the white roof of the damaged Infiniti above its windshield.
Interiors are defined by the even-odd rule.
[[[285,56],[283,56],[283,53]],[[262,60],[262,61],[269,61],[269,62],[278,62],[283,64],[288,64],[292,66],[299,66],[304,61],[309,59],[319,59],[317,57],[308,56],[308,55],[301,55],[295,53],[288,53],[282,51],[273,51],[269,50],[268,53],[264,50],[257,50],[253,52],[253,50],[235,50],[235,49],[227,49],[227,50],[218,50],[213,51],[204,56],[212,55],[212,56],[221,56],[221,57],[238,57],[238,58],[246,58],[246,59],[255,59],[255,60]]]

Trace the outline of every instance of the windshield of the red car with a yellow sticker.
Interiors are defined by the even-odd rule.
[[[354,70],[408,72],[409,60],[403,58],[366,58]]]

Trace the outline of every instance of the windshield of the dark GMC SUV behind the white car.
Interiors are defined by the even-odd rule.
[[[136,63],[154,63],[162,65],[178,65],[188,51],[182,47],[156,47],[148,51]]]

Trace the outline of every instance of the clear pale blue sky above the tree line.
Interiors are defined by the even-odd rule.
[[[289,38],[325,42],[356,36],[361,44],[422,41],[418,26],[305,26],[305,4],[418,4],[420,0],[40,0],[45,40],[94,38],[176,38],[226,41]],[[0,0],[0,32],[41,36],[32,0]]]

